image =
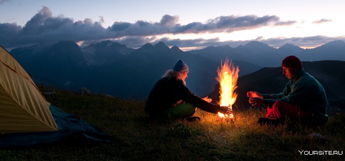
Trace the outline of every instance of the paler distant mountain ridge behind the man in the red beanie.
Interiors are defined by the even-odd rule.
[[[285,44],[276,49],[267,44],[252,41],[235,48],[228,45],[208,46],[201,50],[191,50],[188,52],[209,57],[217,62],[224,59],[224,57],[229,57],[232,60],[246,61],[262,67],[277,67],[289,55],[295,55],[301,61],[345,61],[345,42],[342,40],[333,41],[314,49],[302,49],[293,44]]]

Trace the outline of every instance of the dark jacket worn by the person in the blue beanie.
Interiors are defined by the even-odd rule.
[[[163,77],[152,88],[146,101],[145,111],[151,114],[161,114],[179,100],[214,114],[217,114],[220,109],[219,105],[208,103],[196,96],[183,84],[181,79]]]

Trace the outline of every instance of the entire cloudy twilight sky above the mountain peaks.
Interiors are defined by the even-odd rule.
[[[0,0],[0,45],[162,41],[191,50],[259,41],[310,49],[345,41],[344,7],[344,0]]]

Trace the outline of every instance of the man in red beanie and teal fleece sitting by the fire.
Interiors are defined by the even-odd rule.
[[[296,56],[284,58],[282,68],[289,79],[283,93],[247,92],[250,104],[267,107],[266,117],[258,118],[258,122],[277,124],[291,120],[303,125],[324,125],[328,120],[328,103],[322,85],[304,71],[302,62]]]

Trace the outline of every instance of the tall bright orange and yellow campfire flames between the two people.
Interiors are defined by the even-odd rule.
[[[234,93],[234,90],[237,88],[237,78],[238,78],[238,66],[234,67],[232,61],[229,63],[229,59],[226,58],[223,64],[221,63],[221,68],[218,67],[217,81],[220,83],[219,87],[219,103],[220,106],[228,106],[232,110],[232,105],[235,103],[237,94]],[[229,116],[221,114],[218,112],[220,118],[234,118],[234,115]]]

